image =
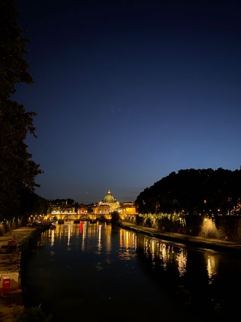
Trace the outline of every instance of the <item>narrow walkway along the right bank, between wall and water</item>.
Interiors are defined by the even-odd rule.
[[[209,248],[221,252],[240,252],[241,254],[241,243],[234,243],[228,240],[221,240],[215,238],[205,238],[199,236],[189,236],[179,233],[172,232],[162,232],[159,229],[148,228],[143,226],[138,226],[135,224],[122,222],[120,226],[123,228],[131,229],[134,231],[138,231],[144,234],[148,234],[150,236],[154,236],[157,238],[174,241],[176,243],[183,243],[193,247],[201,247],[201,248]]]

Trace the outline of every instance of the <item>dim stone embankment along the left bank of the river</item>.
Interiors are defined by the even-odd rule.
[[[35,229],[34,227],[20,227],[0,236],[0,282],[4,276],[12,276],[15,273],[18,276],[17,285],[14,287],[14,290],[5,291],[2,288],[0,292],[0,321],[17,321],[17,317],[24,308],[20,281],[21,250],[19,244]],[[16,247],[8,247],[9,240],[15,240],[17,243]]]

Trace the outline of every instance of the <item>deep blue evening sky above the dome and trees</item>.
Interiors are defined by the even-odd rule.
[[[47,199],[134,201],[172,171],[241,165],[241,13],[226,1],[18,0]]]

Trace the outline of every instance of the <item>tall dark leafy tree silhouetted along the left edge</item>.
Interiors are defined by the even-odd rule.
[[[0,218],[18,214],[21,192],[33,192],[35,177],[42,171],[24,143],[27,133],[35,135],[34,112],[11,100],[17,83],[32,84],[29,63],[23,57],[27,40],[18,24],[13,0],[0,1]]]

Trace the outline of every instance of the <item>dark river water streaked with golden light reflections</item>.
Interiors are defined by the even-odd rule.
[[[23,300],[53,321],[227,320],[240,315],[240,269],[240,256],[67,222],[44,232],[28,256]]]

